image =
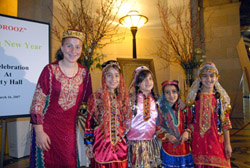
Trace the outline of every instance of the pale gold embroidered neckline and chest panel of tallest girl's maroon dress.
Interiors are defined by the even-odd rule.
[[[76,104],[79,85],[82,84],[83,78],[86,76],[86,70],[79,68],[75,77],[68,78],[60,71],[59,66],[57,66],[55,76],[56,80],[61,83],[58,104],[66,111]]]

